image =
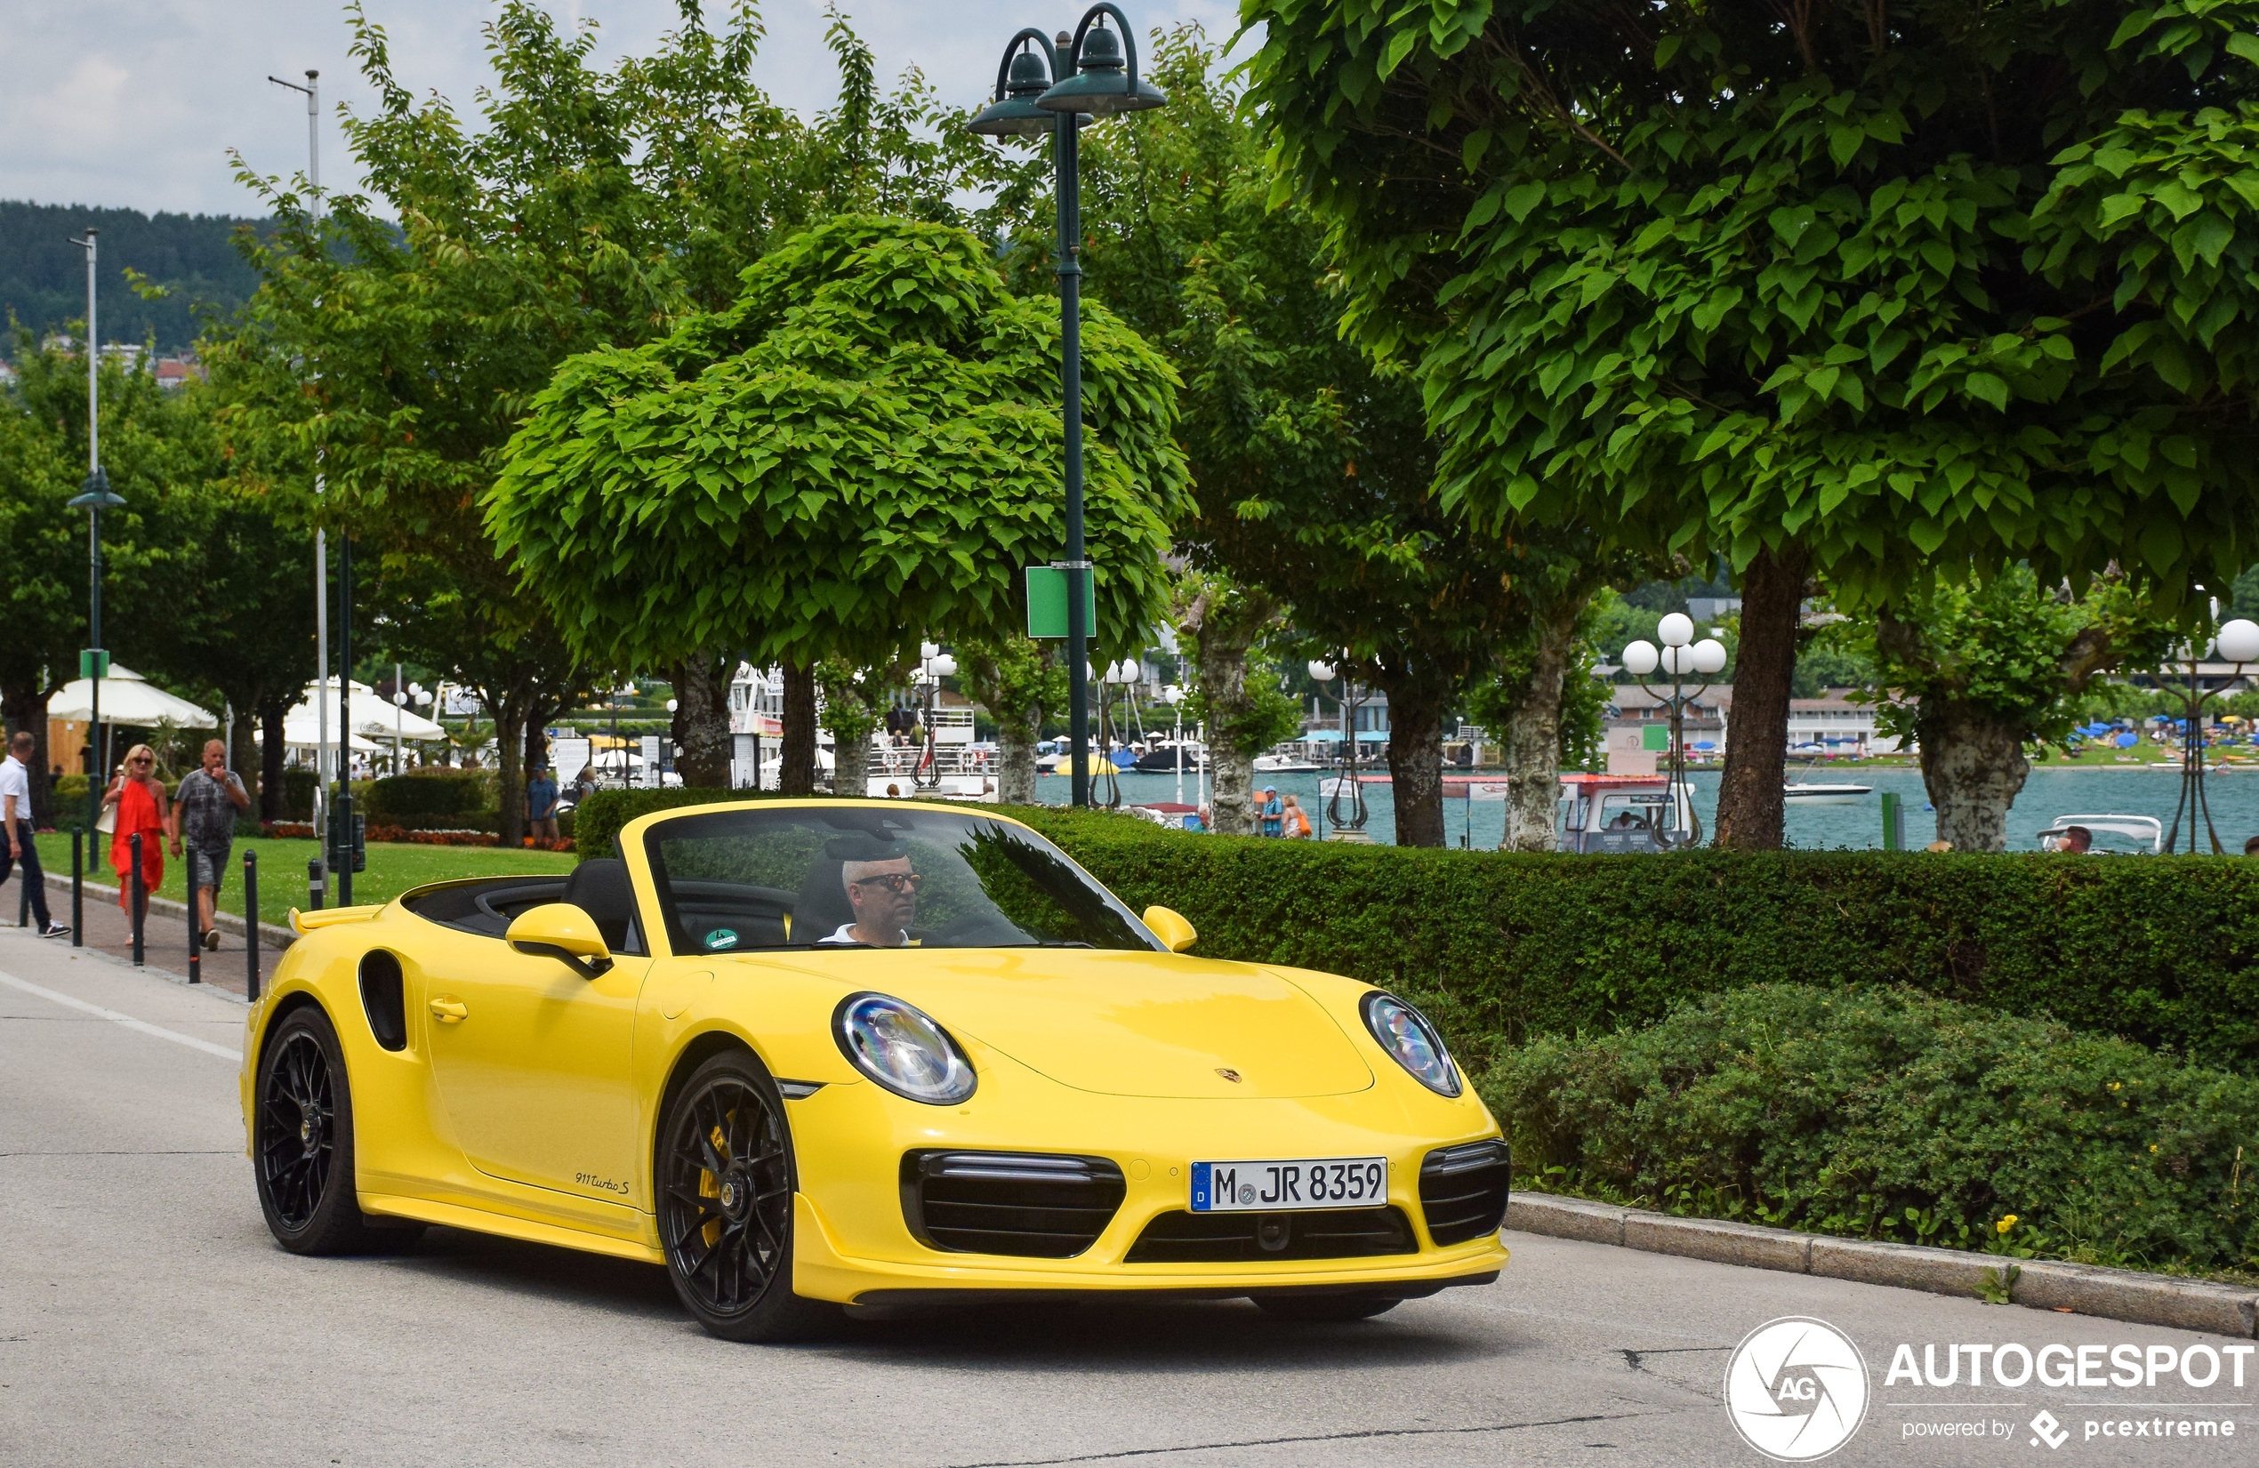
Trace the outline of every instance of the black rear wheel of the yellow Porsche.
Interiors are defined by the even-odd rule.
[[[260,1057],[253,1168],[267,1229],[291,1253],[368,1244],[352,1188],[352,1091],[337,1030],[314,1005],[291,1010]]]

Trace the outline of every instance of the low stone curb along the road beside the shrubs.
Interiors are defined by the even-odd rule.
[[[1550,1192],[1516,1192],[1507,1202],[1507,1229],[1959,1299],[1983,1299],[1986,1287],[1997,1287],[1999,1272],[2013,1265],[2008,1299],[2031,1310],[2069,1310],[2137,1326],[2207,1330],[2243,1339],[2252,1339],[2259,1330],[2259,1290],[2139,1269],[2015,1260],[1999,1253],[1674,1217]]]

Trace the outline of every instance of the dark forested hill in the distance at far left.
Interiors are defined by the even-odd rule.
[[[244,224],[260,221],[0,201],[0,309],[34,332],[84,321],[86,251],[70,239],[93,226],[102,230],[102,339],[138,343],[154,334],[160,352],[174,352],[197,339],[199,305],[230,312],[258,285],[230,242]],[[142,300],[127,285],[129,269],[172,294]],[[14,352],[14,341],[0,343],[0,352]]]

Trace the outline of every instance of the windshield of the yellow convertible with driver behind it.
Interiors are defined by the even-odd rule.
[[[1023,827],[915,806],[786,806],[662,820],[644,836],[675,953],[761,949],[1159,951]]]

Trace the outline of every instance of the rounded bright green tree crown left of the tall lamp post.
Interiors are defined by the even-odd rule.
[[[727,309],[567,359],[486,524],[599,662],[743,646],[879,666],[919,635],[992,635],[1021,569],[1064,544],[1057,334],[969,233],[831,219],[750,266]],[[1132,650],[1184,501],[1177,384],[1087,307],[1082,388],[1098,646]]]

